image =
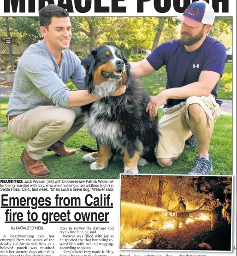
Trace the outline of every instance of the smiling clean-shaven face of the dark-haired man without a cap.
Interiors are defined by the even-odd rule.
[[[45,29],[44,37],[57,50],[68,49],[71,41],[69,17],[53,17],[48,29]]]

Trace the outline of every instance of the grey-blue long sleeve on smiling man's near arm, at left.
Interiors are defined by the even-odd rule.
[[[54,72],[53,64],[47,56],[32,52],[30,56],[22,59],[21,69],[41,93],[55,105],[69,108],[69,89]]]

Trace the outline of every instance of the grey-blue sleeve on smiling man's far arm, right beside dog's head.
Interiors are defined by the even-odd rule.
[[[78,90],[85,90],[85,71],[83,69],[83,65],[81,64],[81,60],[77,57],[77,55],[75,53],[72,54],[76,63],[76,68],[70,79]]]

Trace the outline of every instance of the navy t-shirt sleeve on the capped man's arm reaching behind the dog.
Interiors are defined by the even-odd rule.
[[[166,54],[167,48],[170,42],[160,44],[148,57],[147,61],[151,64],[153,69],[159,70],[162,66],[166,64]]]

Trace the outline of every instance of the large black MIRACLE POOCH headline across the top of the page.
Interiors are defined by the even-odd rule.
[[[110,0],[111,8],[109,6],[102,6],[101,0],[39,0],[38,6],[36,7],[35,0],[29,0],[28,6],[26,6],[25,0],[4,0],[4,12],[17,12],[19,6],[19,12],[36,12],[36,8],[40,11],[47,4],[55,4],[67,10],[67,12],[73,13],[74,11],[80,13],[89,12],[92,8],[92,2],[94,3],[94,12],[95,13],[109,13],[109,12],[120,12],[126,13],[126,1],[130,0]],[[166,13],[170,10],[172,4],[176,12],[184,12],[184,10],[190,5],[190,3],[197,0],[164,0],[161,3],[161,0],[136,0],[137,4],[137,13],[144,11],[144,5],[146,2],[153,2],[154,9],[159,13]],[[184,6],[182,3],[184,2]],[[209,0],[206,0],[209,3]],[[73,8],[73,3],[75,10]],[[222,12],[229,12],[229,0],[213,0],[212,6],[215,12],[219,12],[219,4],[222,6]],[[123,6],[122,6],[123,5]],[[181,6],[182,5],[182,6]],[[10,7],[11,6],[11,7]]]

